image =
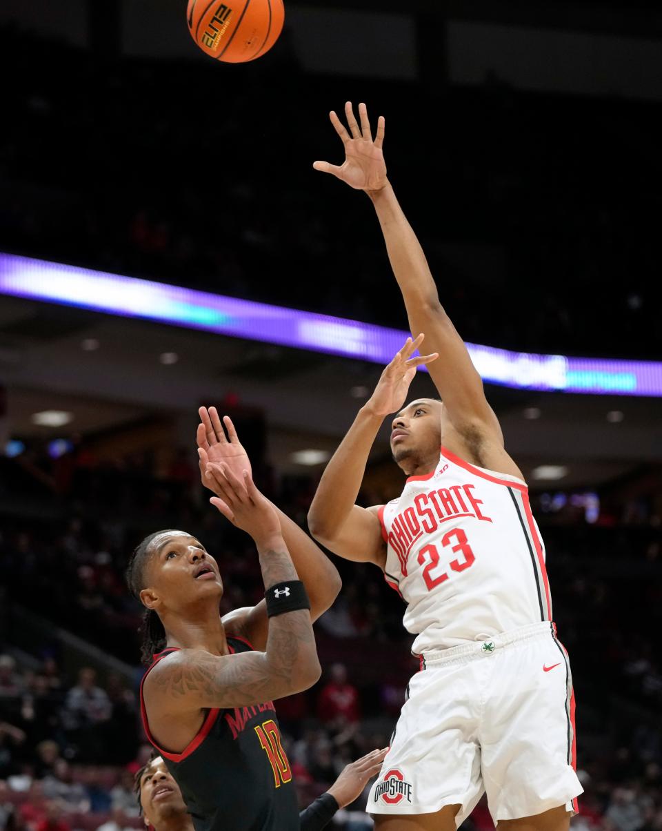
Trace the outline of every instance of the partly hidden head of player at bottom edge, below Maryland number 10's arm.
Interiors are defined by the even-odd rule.
[[[155,831],[189,831],[193,823],[179,785],[164,760],[156,756],[135,776],[140,812],[147,828]]]

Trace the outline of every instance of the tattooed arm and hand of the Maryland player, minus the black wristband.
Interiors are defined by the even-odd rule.
[[[278,583],[298,580],[272,504],[246,472],[245,484],[224,466],[222,498],[210,501],[238,528],[253,537],[267,592]],[[284,591],[285,587],[279,589]],[[293,596],[292,588],[292,596]],[[145,679],[159,715],[204,708],[248,706],[291,696],[320,677],[310,612],[306,608],[269,618],[264,652],[215,656],[202,649],[174,652]]]

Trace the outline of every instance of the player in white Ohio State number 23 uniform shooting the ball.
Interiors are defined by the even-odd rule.
[[[439,301],[414,231],[386,177],[385,120],[373,139],[364,104],[331,123],[345,162],[315,162],[375,206],[411,332],[321,477],[311,533],[341,557],[375,563],[405,600],[419,671],[368,801],[380,831],[463,822],[481,795],[501,831],[567,831],[576,777],[574,697],[552,623],[545,549],[527,484],[503,446],[483,383]],[[405,406],[429,363],[441,401]],[[398,499],[356,505],[386,416],[407,476]]]

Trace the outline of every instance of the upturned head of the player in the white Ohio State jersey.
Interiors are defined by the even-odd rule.
[[[417,398],[393,416],[390,450],[406,474],[439,461],[443,416],[437,398]]]

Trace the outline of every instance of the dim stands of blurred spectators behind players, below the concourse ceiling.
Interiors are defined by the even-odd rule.
[[[7,578],[0,598],[0,829],[140,827],[131,777],[150,749],[136,706],[140,607],[123,580],[140,538],[173,525],[199,536],[218,558],[222,612],[262,597],[250,539],[202,499],[194,466],[178,460],[157,477],[149,455],[113,465],[95,464],[84,450],[76,458],[55,492],[35,472],[57,479],[58,460],[51,467],[38,455],[27,466],[21,457],[2,460],[14,512],[0,492],[0,572]],[[265,487],[305,524],[313,479],[267,477]],[[27,504],[41,494],[38,516],[16,508],[22,490]],[[575,824],[582,831],[662,831],[660,500],[640,484],[631,490],[636,498],[596,494],[600,509],[591,523],[577,500],[534,497],[555,619],[573,666],[586,789]],[[363,495],[367,503],[380,499]],[[375,569],[338,567],[341,596],[316,627],[325,676],[315,689],[277,702],[302,805],[346,762],[388,744],[417,668],[400,598]],[[101,651],[94,667],[71,664],[56,627]],[[105,666],[106,656],[123,663]],[[362,808],[359,800],[339,814],[336,827],[360,831]],[[490,828],[484,804],[471,825]]]

